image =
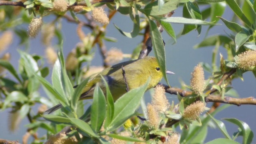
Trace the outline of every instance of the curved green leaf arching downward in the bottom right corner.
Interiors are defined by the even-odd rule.
[[[236,118],[224,118],[228,122],[236,124],[242,130],[243,134],[243,144],[251,144],[253,138],[253,132],[245,122],[242,122]]]

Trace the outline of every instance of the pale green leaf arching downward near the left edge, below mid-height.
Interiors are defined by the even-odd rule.
[[[4,110],[6,108],[6,106],[8,104],[10,104],[11,102],[21,102],[21,103],[24,103],[27,100],[28,100],[28,97],[26,97],[22,92],[20,92],[20,91],[13,91],[10,94],[8,94],[8,96],[4,100],[4,105],[2,107],[2,110]]]

